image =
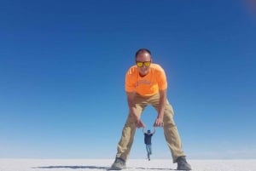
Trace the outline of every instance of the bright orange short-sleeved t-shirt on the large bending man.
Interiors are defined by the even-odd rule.
[[[157,64],[151,64],[149,67],[148,75],[141,77],[137,66],[131,66],[125,76],[126,92],[135,91],[142,96],[150,96],[167,88],[164,69]]]

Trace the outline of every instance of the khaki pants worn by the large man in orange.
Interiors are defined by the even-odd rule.
[[[135,102],[137,113],[141,115],[147,105],[152,105],[154,109],[158,111],[159,98],[159,94],[155,94],[150,97],[143,97],[136,94]],[[137,127],[134,117],[132,117],[131,113],[129,113],[119,140],[116,157],[120,157],[125,161],[127,160],[131,151],[131,145],[134,140],[136,129]],[[172,161],[176,162],[177,157],[185,156],[185,154],[182,149],[182,143],[177,131],[177,127],[173,120],[172,105],[170,105],[168,100],[166,100],[166,110],[164,112],[164,134],[166,137],[166,143],[172,153]]]

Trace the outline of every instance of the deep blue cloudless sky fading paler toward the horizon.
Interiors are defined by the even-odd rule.
[[[189,158],[255,158],[256,13],[239,0],[0,1],[0,157],[113,158],[138,48],[166,69]],[[161,128],[153,151],[172,158]]]

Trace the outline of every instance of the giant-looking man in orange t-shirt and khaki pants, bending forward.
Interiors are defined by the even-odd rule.
[[[151,52],[141,48],[135,55],[136,66],[126,72],[125,92],[129,106],[129,115],[122,131],[115,161],[110,169],[121,170],[131,151],[137,128],[145,128],[140,119],[147,105],[157,111],[154,127],[163,127],[166,142],[172,153],[172,162],[177,162],[177,170],[191,170],[182,149],[182,143],[173,120],[172,105],[166,99],[167,81],[163,68],[152,63]]]

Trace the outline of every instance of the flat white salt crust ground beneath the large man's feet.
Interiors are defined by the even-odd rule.
[[[188,160],[195,171],[256,171],[255,160]],[[108,170],[113,159],[0,159],[0,171]],[[167,159],[130,159],[125,171],[176,170]]]

